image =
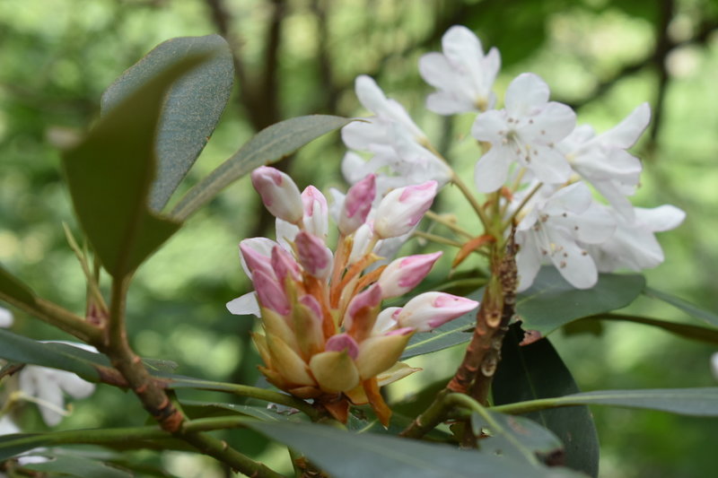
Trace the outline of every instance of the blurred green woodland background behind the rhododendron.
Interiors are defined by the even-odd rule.
[[[644,159],[644,177],[634,202],[676,204],[687,220],[661,234],[667,259],[646,272],[648,282],[718,309],[715,0],[3,0],[0,261],[41,295],[83,311],[83,275],[62,231],[62,222],[77,227],[58,147],[92,126],[109,83],[156,44],[177,36],[220,33],[234,48],[237,66],[232,99],[188,185],[281,119],[365,115],[353,91],[357,74],[377,79],[471,178],[477,160],[468,136],[473,117],[444,120],[425,110],[430,87],[416,69],[419,56],[440,49],[443,32],[457,23],[474,30],[485,49],[499,48],[499,98],[513,76],[534,72],[551,86],[552,99],[574,106],[579,123],[599,131],[639,103],[652,104],[652,126],[635,148]],[[328,135],[282,167],[300,187],[315,184],[326,194],[328,187],[345,187],[338,170],[343,154],[338,135]],[[439,207],[460,214],[465,206],[445,191]],[[253,383],[256,357],[247,341],[252,321],[230,315],[224,303],[249,287],[239,240],[267,233],[267,224],[246,178],[197,213],[136,277],[128,306],[137,351],[179,362],[180,373]],[[433,279],[445,277],[450,263],[447,254]],[[649,300],[631,310],[689,320]],[[15,330],[66,338],[22,316]],[[610,323],[600,335],[557,333],[552,341],[583,390],[715,385],[708,366],[714,348],[661,330]],[[432,369],[391,396],[450,376],[460,354],[434,355]],[[136,399],[110,387],[100,387],[76,409],[62,427],[144,422]],[[716,465],[715,420],[610,408],[593,413],[602,477],[701,477]],[[37,417],[28,421],[38,423]],[[256,435],[246,434],[245,442],[260,459],[283,453]],[[224,473],[181,454],[165,457],[165,464],[180,476]]]

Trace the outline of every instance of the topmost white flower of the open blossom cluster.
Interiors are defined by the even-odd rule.
[[[481,41],[466,27],[453,26],[442,37],[441,53],[419,58],[419,73],[438,91],[426,98],[426,108],[440,115],[494,108],[491,91],[501,67],[496,48],[486,56]]]

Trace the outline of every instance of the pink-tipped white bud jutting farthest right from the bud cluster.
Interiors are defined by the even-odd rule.
[[[476,309],[477,305],[476,300],[445,292],[425,292],[407,302],[398,314],[397,321],[401,327],[414,327],[419,332],[428,332]]]

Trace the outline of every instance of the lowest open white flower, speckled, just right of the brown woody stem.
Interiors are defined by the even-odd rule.
[[[515,197],[514,201],[520,201]],[[544,261],[550,260],[578,289],[588,289],[598,280],[593,258],[583,244],[600,244],[616,228],[611,215],[591,198],[583,183],[563,187],[551,196],[539,197],[516,228],[519,253],[519,291],[533,282]]]

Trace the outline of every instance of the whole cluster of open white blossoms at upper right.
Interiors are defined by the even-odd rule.
[[[480,193],[504,189],[503,196],[512,197],[504,210],[518,221],[520,290],[542,264],[555,265],[579,289],[593,286],[599,272],[661,264],[654,233],[677,227],[685,213],[672,205],[637,208],[627,199],[639,185],[642,165],[626,150],[649,123],[648,104],[596,134],[591,126],[576,126],[573,109],[549,100],[548,85],[538,75],[524,73],[509,84],[503,109],[495,109],[500,65],[496,48],[485,55],[473,32],[453,26],[443,35],[442,53],[421,57],[419,73],[436,89],[426,99],[428,109],[477,113],[471,135],[487,151],[476,163],[475,184]],[[368,76],[358,77],[355,89],[374,116],[342,131],[350,150],[342,172],[349,183],[375,173],[377,189],[385,193],[429,179],[440,185],[451,180],[451,168],[397,101]],[[371,157],[367,161],[357,152]]]

